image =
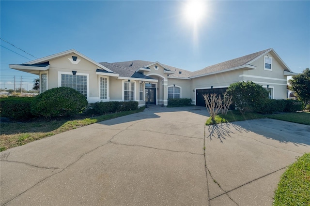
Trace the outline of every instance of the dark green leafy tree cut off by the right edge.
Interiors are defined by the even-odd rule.
[[[308,103],[310,101],[310,69],[305,69],[301,74],[292,76],[289,80],[290,89],[294,95],[301,101]]]

